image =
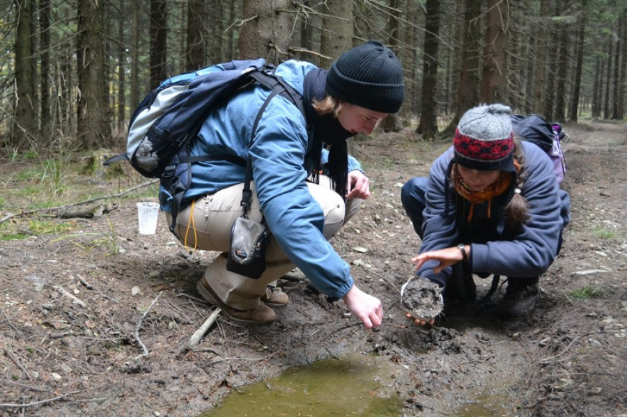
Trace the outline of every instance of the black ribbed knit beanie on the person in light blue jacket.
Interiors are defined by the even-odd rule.
[[[396,113],[405,96],[401,63],[376,40],[344,52],[327,73],[327,93],[380,113]]]

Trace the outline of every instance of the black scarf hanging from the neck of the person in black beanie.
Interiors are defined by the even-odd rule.
[[[309,129],[314,131],[314,148],[315,157],[314,178],[316,171],[320,169],[320,152],[322,152],[323,143],[325,148],[330,146],[329,163],[326,168],[329,170],[329,176],[334,183],[334,189],[337,194],[346,199],[346,184],[348,182],[348,149],[346,147],[346,139],[353,136],[352,133],[344,129],[339,120],[332,115],[327,114],[320,116],[314,109],[313,100],[324,100],[326,96],[327,70],[311,70],[304,79],[303,102],[305,113],[307,114],[307,123]]]

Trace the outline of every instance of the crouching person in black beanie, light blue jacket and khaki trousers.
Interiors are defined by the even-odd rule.
[[[381,301],[357,288],[328,239],[370,196],[369,179],[348,155],[346,139],[370,134],[379,120],[400,109],[401,65],[392,50],[371,40],[344,52],[330,70],[291,60],[278,65],[276,74],[302,93],[306,118],[277,95],[263,111],[250,146],[251,127],[269,94],[253,85],[212,111],[193,142],[192,156],[225,156],[192,165],[184,197],[189,204],[176,218],[175,233],[183,243],[221,252],[196,290],[233,320],[266,324],[276,318],[267,304],[288,303],[287,294],[268,285],[296,266],[327,299],[343,299],[366,329],[379,326]],[[266,269],[258,279],[226,270],[245,176],[245,166],[232,160],[248,156],[253,194],[247,214],[256,221],[263,215],[270,230]],[[160,200],[168,213],[172,196],[164,187]]]

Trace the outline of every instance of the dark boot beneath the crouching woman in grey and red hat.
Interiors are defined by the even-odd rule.
[[[508,278],[500,304],[493,312],[500,317],[529,315],[540,301],[538,278]]]

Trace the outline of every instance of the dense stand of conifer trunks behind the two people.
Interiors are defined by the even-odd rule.
[[[123,148],[150,88],[232,59],[328,68],[382,40],[407,95],[384,129],[423,139],[479,102],[550,121],[624,118],[627,3],[617,0],[13,0],[0,45],[1,149],[10,159]]]

